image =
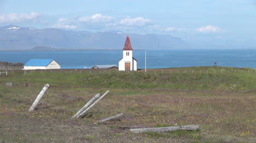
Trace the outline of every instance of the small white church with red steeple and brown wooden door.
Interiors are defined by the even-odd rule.
[[[132,47],[129,35],[123,48],[123,58],[119,61],[119,71],[137,71],[137,60],[132,57]]]

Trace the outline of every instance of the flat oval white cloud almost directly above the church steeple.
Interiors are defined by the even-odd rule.
[[[130,18],[126,17],[121,20],[119,23],[125,26],[146,26],[147,24],[152,23],[153,21],[148,18],[136,17]]]

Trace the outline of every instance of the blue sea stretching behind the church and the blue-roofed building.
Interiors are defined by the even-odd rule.
[[[61,66],[117,65],[123,51],[0,52],[0,61],[26,63],[30,59],[55,59]],[[145,67],[145,51],[133,50],[138,69]],[[147,69],[189,66],[251,67],[256,69],[256,49],[147,50]]]

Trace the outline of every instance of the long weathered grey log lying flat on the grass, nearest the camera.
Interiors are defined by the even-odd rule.
[[[187,126],[172,126],[172,127],[160,127],[160,128],[137,128],[130,129],[133,133],[141,132],[168,132],[173,130],[196,130],[199,129],[199,125],[187,125]]]

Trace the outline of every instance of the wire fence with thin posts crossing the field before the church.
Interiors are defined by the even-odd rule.
[[[118,73],[155,73],[155,74],[184,74],[184,73],[256,73],[253,69],[148,69],[148,70],[138,70],[138,71],[119,71],[118,69],[54,69],[54,70],[9,70],[1,71],[1,75],[11,75],[11,74],[118,74]]]

